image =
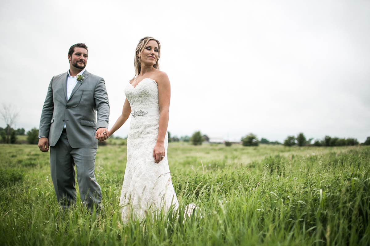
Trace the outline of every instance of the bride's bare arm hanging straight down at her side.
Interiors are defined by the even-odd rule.
[[[157,143],[153,149],[153,157],[155,163],[159,163],[165,156],[164,139],[167,134],[168,116],[169,116],[169,101],[171,98],[171,86],[168,76],[165,72],[161,72],[158,76],[158,103],[161,116],[159,117],[159,129]]]

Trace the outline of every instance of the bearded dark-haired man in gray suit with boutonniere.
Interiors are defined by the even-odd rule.
[[[71,46],[70,69],[51,79],[40,119],[38,147],[48,152],[50,146],[51,179],[61,208],[76,203],[76,166],[81,200],[92,212],[93,207],[101,208],[95,155],[98,140],[109,136],[110,108],[104,79],[85,69],[87,56],[85,44]]]

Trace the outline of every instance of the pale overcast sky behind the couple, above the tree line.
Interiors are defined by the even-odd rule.
[[[0,8],[0,103],[20,110],[17,128],[38,128],[48,84],[79,42],[87,70],[105,79],[112,127],[136,45],[151,36],[171,82],[172,135],[370,136],[370,1],[2,0]]]

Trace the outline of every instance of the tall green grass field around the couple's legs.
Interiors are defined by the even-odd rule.
[[[125,225],[122,141],[97,152],[97,217],[80,200],[59,212],[48,153],[0,145],[0,245],[369,245],[370,147],[170,143],[180,212]],[[184,220],[191,202],[199,208]]]

